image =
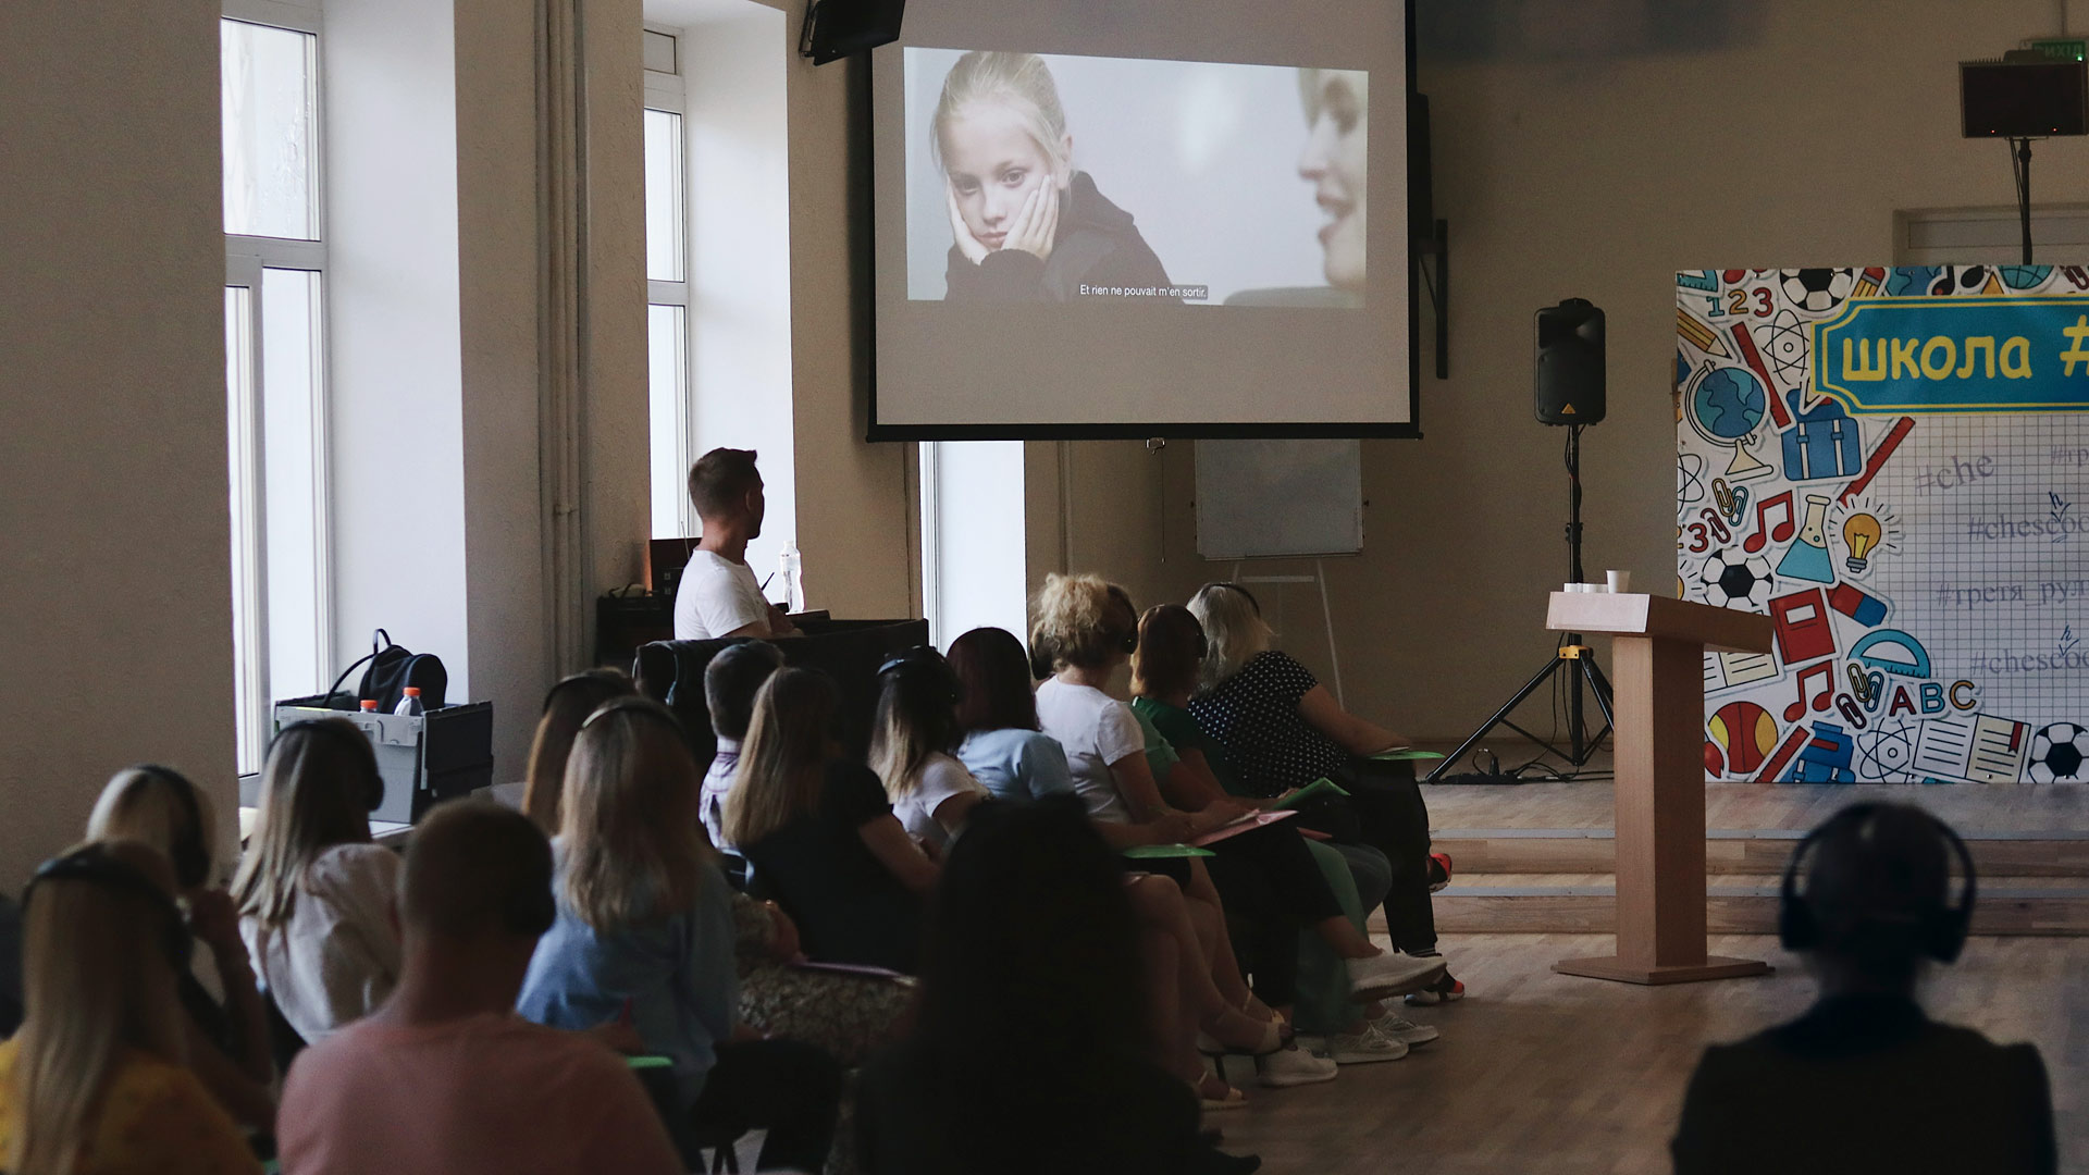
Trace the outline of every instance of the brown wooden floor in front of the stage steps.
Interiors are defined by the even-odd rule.
[[[1667,1142],[1705,1043],[1799,1014],[1811,983],[1757,937],[1713,939],[1713,951],[1771,960],[1767,978],[1627,987],[1550,972],[1558,958],[1609,947],[1596,935],[1446,939],[1471,997],[1412,1010],[1443,1039],[1343,1068],[1329,1085],[1249,1087],[1245,1110],[1212,1121],[1228,1150],[1262,1154],[1270,1173],[1669,1171]],[[2089,939],[1974,939],[1930,983],[1928,1004],[1939,1018],[2043,1050],[2060,1169],[2089,1175]]]

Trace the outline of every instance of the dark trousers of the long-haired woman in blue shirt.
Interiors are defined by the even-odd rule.
[[[762,1127],[756,1171],[821,1171],[842,1112],[842,1066],[802,1041],[733,1041],[717,1052],[687,1133],[714,1144]]]

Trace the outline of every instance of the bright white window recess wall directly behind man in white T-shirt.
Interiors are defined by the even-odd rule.
[[[681,38],[689,159],[689,383],[694,454],[758,450],[769,519],[748,544],[765,579],[798,535],[792,418],[790,155],[783,13],[742,2]],[[683,470],[687,473],[687,470]],[[685,491],[685,489],[683,489]],[[808,560],[815,606],[821,567]],[[831,581],[829,581],[831,585]],[[769,585],[783,598],[783,583]]]

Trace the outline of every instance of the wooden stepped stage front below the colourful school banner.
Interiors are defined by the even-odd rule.
[[[1609,782],[1427,784],[1423,794],[1435,849],[1458,868],[1435,901],[1439,930],[1615,930]],[[1709,928],[1771,932],[1797,840],[1863,799],[1916,803],[1959,830],[1980,868],[1974,932],[2089,935],[2089,784],[1707,784]]]

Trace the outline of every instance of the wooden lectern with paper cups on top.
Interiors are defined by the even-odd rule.
[[[1617,690],[1617,953],[1552,970],[1623,983],[1765,974],[1769,964],[1705,953],[1705,650],[1769,652],[1769,617],[1554,592],[1546,627],[1615,638]]]

